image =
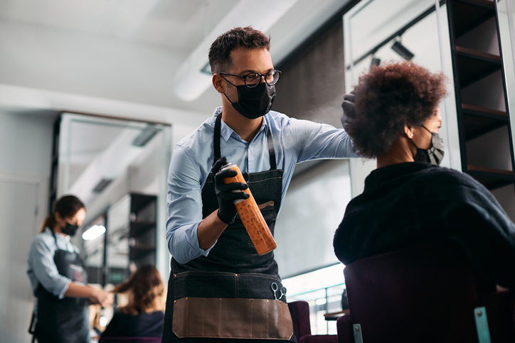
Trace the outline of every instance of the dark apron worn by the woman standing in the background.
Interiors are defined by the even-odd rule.
[[[55,233],[52,232],[55,239]],[[76,252],[57,249],[53,256],[55,266],[62,276],[71,281],[87,283],[84,263]],[[36,290],[38,298],[38,322],[34,336],[38,343],[89,343],[90,310],[86,298],[59,299],[39,285]]]

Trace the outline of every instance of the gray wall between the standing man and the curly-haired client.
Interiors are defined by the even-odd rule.
[[[272,108],[341,128],[343,49],[338,23],[282,70]],[[350,200],[347,160],[297,165],[275,227],[275,257],[282,278],[338,263],[332,241]]]

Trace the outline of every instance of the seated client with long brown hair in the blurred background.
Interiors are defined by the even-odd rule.
[[[161,337],[166,291],[159,271],[142,266],[114,293],[128,293],[129,303],[119,307],[102,337]]]

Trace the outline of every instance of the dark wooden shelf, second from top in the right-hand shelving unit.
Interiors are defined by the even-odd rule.
[[[460,87],[464,88],[481,80],[483,77],[501,70],[502,59],[500,56],[468,48],[456,47],[458,72],[460,75]]]

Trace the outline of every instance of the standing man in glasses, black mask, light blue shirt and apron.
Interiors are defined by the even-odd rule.
[[[209,50],[222,107],[171,158],[166,238],[173,275],[163,342],[296,342],[274,255],[257,254],[233,202],[250,187],[273,233],[296,163],[356,154],[344,130],[270,111],[281,72],[269,48],[269,38],[247,27],[223,33]],[[223,184],[235,175],[220,171],[227,162],[248,184]]]

